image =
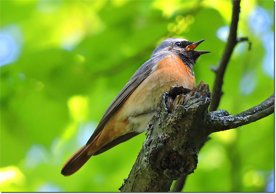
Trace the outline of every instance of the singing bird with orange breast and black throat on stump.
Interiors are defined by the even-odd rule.
[[[91,156],[144,132],[150,119],[158,114],[163,93],[172,86],[192,89],[195,86],[192,67],[200,55],[210,52],[194,50],[203,41],[182,38],[162,41],[107,107],[87,143],[65,162],[61,174],[74,174]]]

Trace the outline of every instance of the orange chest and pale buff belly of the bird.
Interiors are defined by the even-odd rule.
[[[195,77],[181,59],[170,56],[159,62],[153,73],[129,96],[122,107],[123,114],[129,117],[157,109],[163,93],[172,86],[192,89]]]

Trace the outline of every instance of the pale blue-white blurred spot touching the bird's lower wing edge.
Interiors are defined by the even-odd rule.
[[[96,127],[97,123],[94,121],[88,122],[84,127],[82,124],[80,124],[77,134],[77,143],[79,146],[86,144],[92,133],[95,131]]]

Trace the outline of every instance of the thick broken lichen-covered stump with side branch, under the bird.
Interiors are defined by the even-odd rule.
[[[173,87],[164,93],[160,111],[148,125],[147,139],[121,192],[168,192],[173,180],[196,169],[197,153],[209,134],[254,122],[274,112],[272,95],[260,105],[235,115],[235,119],[240,118],[235,123],[227,111],[208,112],[210,100],[209,86],[203,81],[192,90]]]

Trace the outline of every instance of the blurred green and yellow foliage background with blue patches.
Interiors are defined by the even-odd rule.
[[[94,156],[63,177],[133,73],[169,37],[206,39],[194,67],[213,88],[231,1],[1,1],[2,192],[117,192],[146,136]],[[219,108],[232,115],[274,93],[274,1],[241,1],[238,44]],[[184,192],[274,189],[274,114],[217,132]]]

